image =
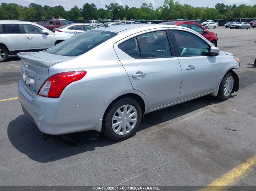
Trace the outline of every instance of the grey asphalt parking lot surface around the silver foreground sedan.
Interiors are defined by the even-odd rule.
[[[73,135],[90,139],[78,147],[44,141],[18,99],[5,100],[17,97],[20,59],[1,63],[0,185],[256,186],[256,29],[209,30],[241,59],[239,91],[149,113],[122,142],[87,132]]]

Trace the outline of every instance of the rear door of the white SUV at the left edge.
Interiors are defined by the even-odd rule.
[[[26,40],[20,24],[1,24],[0,30],[1,41],[7,46],[11,55],[27,51]]]

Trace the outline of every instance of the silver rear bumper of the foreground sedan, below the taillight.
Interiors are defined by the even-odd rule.
[[[109,105],[109,102],[102,102],[74,106],[62,97],[32,97],[25,91],[21,81],[18,85],[18,98],[25,116],[40,131],[51,135],[95,129]]]

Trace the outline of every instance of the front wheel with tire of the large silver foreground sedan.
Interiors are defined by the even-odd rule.
[[[233,80],[233,85],[231,86],[232,80]],[[235,84],[234,80],[235,80],[234,74],[232,72],[227,72],[227,74],[224,76],[224,78],[221,81],[220,88],[218,91],[217,98],[219,100],[224,101],[231,96],[232,92],[234,91],[234,84]],[[227,90],[227,92],[225,90]],[[224,92],[226,92],[226,94]]]

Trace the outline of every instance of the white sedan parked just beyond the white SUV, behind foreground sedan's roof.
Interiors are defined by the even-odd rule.
[[[53,31],[58,31],[58,32],[65,32],[65,33],[70,33],[73,34],[74,36],[77,34],[80,34],[82,32],[85,32],[86,30],[91,30],[95,29],[96,27],[89,25],[89,24],[66,24],[63,25],[62,27],[58,27],[56,29],[53,29]]]

